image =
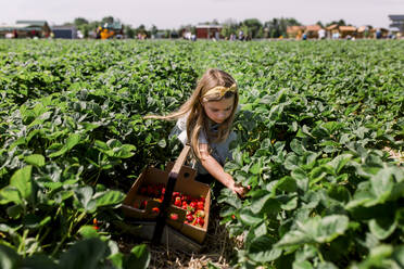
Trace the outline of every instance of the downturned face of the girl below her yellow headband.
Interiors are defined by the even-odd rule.
[[[235,97],[231,97],[224,98],[220,101],[203,102],[202,106],[211,120],[222,124],[231,115],[233,103]]]

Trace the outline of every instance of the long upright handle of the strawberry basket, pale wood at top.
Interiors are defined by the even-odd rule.
[[[161,238],[163,235],[163,230],[165,226],[165,219],[167,218],[167,207],[169,206],[169,203],[172,202],[173,191],[175,183],[177,182],[177,178],[179,175],[179,170],[181,169],[181,166],[187,159],[187,156],[191,150],[191,146],[189,144],[186,144],[179,154],[177,161],[175,162],[173,169],[168,174],[168,181],[165,187],[165,193],[162,204],[160,205],[160,213],[156,218],[156,223],[153,232],[153,239],[152,243],[154,245],[160,244]]]

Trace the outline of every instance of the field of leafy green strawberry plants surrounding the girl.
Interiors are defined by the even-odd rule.
[[[181,145],[167,139],[175,123],[142,116],[175,111],[218,67],[241,105],[225,169],[252,187],[214,202],[242,236],[230,266],[403,268],[403,51],[400,40],[0,40],[0,267],[146,268],[147,243],[117,244],[119,205]]]

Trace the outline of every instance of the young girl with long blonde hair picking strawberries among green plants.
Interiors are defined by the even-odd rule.
[[[182,144],[190,143],[197,159],[197,180],[217,180],[243,197],[248,189],[237,184],[223,168],[225,161],[231,158],[229,144],[236,134],[230,127],[238,102],[236,80],[226,72],[212,68],[203,74],[191,98],[177,112],[144,118],[178,119],[172,134],[177,134]]]

